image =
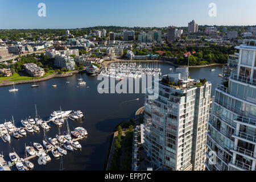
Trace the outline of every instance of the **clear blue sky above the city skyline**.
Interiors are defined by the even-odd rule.
[[[45,3],[46,16],[38,16]],[[209,4],[216,15],[209,16]],[[0,0],[0,29],[256,25],[255,0]]]

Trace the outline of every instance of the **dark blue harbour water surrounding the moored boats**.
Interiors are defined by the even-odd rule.
[[[172,68],[168,64],[162,64],[162,73],[167,74]],[[210,69],[216,69],[210,72]],[[206,78],[212,82],[212,95],[217,83],[221,81],[218,74],[222,72],[222,67],[211,68],[190,68],[191,78]],[[51,80],[38,82],[38,88],[31,88],[31,84],[16,85],[18,92],[10,93],[12,86],[0,88],[0,123],[11,120],[14,117],[15,126],[20,127],[20,120],[35,117],[35,104],[38,114],[47,120],[53,110],[81,110],[85,119],[82,121],[72,121],[68,119],[69,128],[82,126],[88,131],[88,137],[80,140],[82,150],[70,152],[63,156],[64,170],[102,170],[110,144],[112,131],[118,123],[127,121],[134,117],[135,111],[143,106],[144,94],[100,94],[97,92],[97,85],[100,81],[97,76],[81,74],[85,86],[77,87],[77,78],[74,75],[66,78],[53,78]],[[69,81],[69,83],[66,83]],[[52,85],[57,85],[55,88]],[[139,100],[137,99],[139,98]],[[50,123],[51,129],[46,131],[47,137],[55,137],[59,129]],[[67,126],[60,127],[60,131],[67,131]],[[16,140],[11,137],[11,143],[4,143],[0,140],[0,152],[3,152],[5,159],[9,161],[9,152],[15,152],[24,158],[24,146],[33,142],[42,144],[44,132],[40,127],[40,133],[27,134],[27,137]],[[39,165],[34,158],[33,170],[59,170],[60,160],[53,159],[46,165]]]

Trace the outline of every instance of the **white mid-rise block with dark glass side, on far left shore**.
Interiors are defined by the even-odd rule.
[[[54,65],[59,68],[74,70],[76,63],[72,57],[65,55],[56,55]]]

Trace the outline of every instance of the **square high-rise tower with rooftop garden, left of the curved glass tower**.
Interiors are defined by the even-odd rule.
[[[159,80],[156,100],[147,89],[143,140],[154,170],[204,170],[211,87],[188,78],[188,68],[176,68]]]

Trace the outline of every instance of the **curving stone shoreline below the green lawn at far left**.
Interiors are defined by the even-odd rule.
[[[83,73],[85,72],[85,70],[82,71],[73,71],[73,72],[67,72],[66,74],[61,74],[61,75],[48,75],[46,77],[43,78],[36,78],[36,79],[31,79],[31,80],[21,80],[21,81],[14,81],[14,84],[29,84],[29,83],[34,83],[34,80],[36,82],[40,82],[40,81],[46,81],[46,80],[50,80],[52,78],[61,78],[61,77],[69,77],[69,76],[73,76],[77,73]],[[13,82],[1,82],[0,86],[10,86],[13,85]]]

